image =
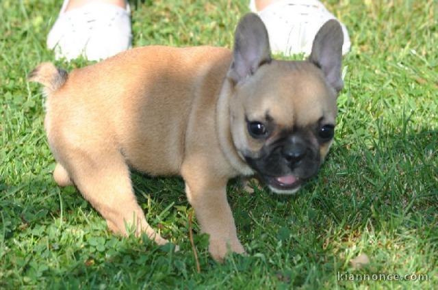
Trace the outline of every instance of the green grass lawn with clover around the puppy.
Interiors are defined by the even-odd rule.
[[[45,40],[61,1],[0,2],[0,288],[438,288],[438,4],[325,2],[348,27],[335,144],[296,197],[229,200],[248,256],[212,261],[188,238],[181,179],[134,175],[149,222],[181,247],[113,236],[74,187],[51,177],[42,94],[26,75],[53,61]],[[231,47],[240,1],[133,1],[133,44]],[[57,62],[64,68],[87,64]],[[199,228],[194,220],[194,231]],[[362,269],[350,259],[370,258]],[[338,281],[341,274],[427,274],[427,281]]]

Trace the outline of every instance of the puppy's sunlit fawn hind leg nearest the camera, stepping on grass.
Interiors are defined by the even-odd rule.
[[[83,150],[71,153],[68,158],[71,178],[112,231],[127,235],[126,226],[131,226],[136,235],[144,232],[160,245],[168,242],[146,222],[133,193],[129,168],[118,150],[97,154]]]

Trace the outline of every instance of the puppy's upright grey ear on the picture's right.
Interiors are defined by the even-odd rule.
[[[341,77],[342,44],[344,44],[344,34],[341,25],[334,19],[329,20],[316,34],[309,56],[309,61],[321,68],[336,92],[342,90],[344,86]]]

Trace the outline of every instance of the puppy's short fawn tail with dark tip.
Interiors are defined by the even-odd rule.
[[[64,85],[68,74],[62,68],[57,68],[51,62],[43,62],[29,74],[29,81],[44,85],[47,94],[55,92]]]

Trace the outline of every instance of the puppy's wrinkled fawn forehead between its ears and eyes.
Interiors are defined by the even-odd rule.
[[[335,92],[311,63],[273,61],[261,66],[242,89],[249,120],[270,116],[285,127],[335,122]]]

